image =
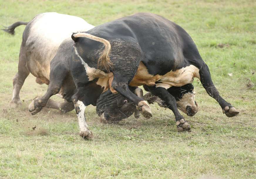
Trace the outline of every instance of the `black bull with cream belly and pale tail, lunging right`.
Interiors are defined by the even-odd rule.
[[[149,105],[128,87],[144,85],[173,111],[178,131],[190,130],[190,127],[179,113],[175,97],[166,89],[191,83],[193,77],[200,79],[206,92],[220,104],[226,116],[239,113],[220,96],[208,66],[188,33],[161,16],[137,13],[97,26],[86,33],[74,33],[72,39],[75,44],[70,59],[71,73],[78,89],[73,95],[75,104],[82,100],[87,105],[83,96],[91,76],[86,64],[113,73],[110,79],[112,92],[117,91],[127,97],[149,118]],[[78,68],[79,73],[76,73]]]

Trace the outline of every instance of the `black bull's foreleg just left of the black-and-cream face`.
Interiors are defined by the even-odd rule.
[[[185,118],[180,114],[177,108],[177,102],[174,96],[172,96],[165,88],[163,87],[149,87],[143,86],[146,91],[151,92],[151,94],[158,96],[164,102],[164,105],[172,110],[175,116],[177,130],[181,131],[191,131],[188,122],[185,121]]]

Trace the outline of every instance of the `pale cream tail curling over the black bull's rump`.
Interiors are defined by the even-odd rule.
[[[110,61],[110,57],[109,57],[111,53],[111,45],[108,40],[97,37],[97,36],[93,36],[88,33],[83,33],[83,32],[73,33],[71,37],[74,41],[76,41],[76,38],[78,37],[85,37],[85,38],[90,38],[91,40],[95,40],[103,43],[105,48],[98,60],[98,67],[104,67],[108,72],[110,72],[110,69],[112,68],[113,63]]]

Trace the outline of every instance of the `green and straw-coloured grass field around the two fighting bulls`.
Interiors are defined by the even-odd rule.
[[[131,116],[112,125],[100,124],[88,107],[95,139],[83,141],[74,111],[30,115],[28,104],[47,89],[32,75],[21,89],[22,106],[9,108],[24,26],[15,36],[0,31],[0,178],[256,178],[255,9],[254,0],[0,0],[3,26],[49,11],[95,26],[136,12],[162,15],[190,34],[220,94],[240,111],[226,117],[195,80],[201,108],[184,114],[190,133],[178,133],[173,113],[157,105],[151,119]]]

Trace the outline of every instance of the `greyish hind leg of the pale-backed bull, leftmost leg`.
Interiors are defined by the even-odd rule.
[[[19,54],[19,63],[18,63],[18,72],[14,76],[13,79],[13,97],[11,99],[11,108],[16,108],[19,104],[21,104],[20,99],[20,90],[29,75],[29,71],[26,67],[27,59],[23,50],[23,46],[21,45],[20,54]]]

